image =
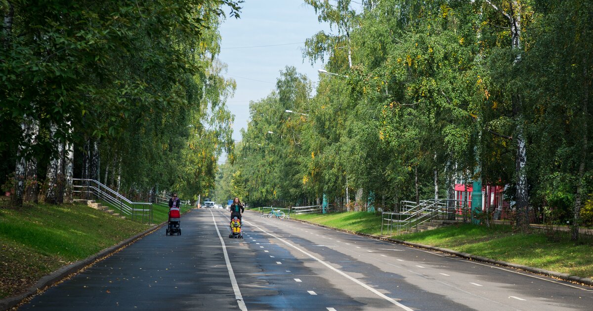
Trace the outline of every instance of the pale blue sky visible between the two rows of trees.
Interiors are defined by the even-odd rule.
[[[302,49],[306,39],[320,30],[329,31],[329,24],[320,24],[303,0],[246,0],[240,16],[222,23],[218,57],[228,65],[224,76],[237,82],[234,97],[227,101],[235,115],[235,141],[241,140],[240,129],[247,129],[249,102],[270,94],[285,66],[295,66],[315,84],[323,63],[311,66],[308,59],[303,60]]]

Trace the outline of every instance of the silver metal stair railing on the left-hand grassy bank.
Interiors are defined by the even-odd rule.
[[[95,179],[73,178],[74,190],[78,198],[85,200],[101,200],[108,206],[120,211],[122,216],[142,223],[152,223],[152,203],[132,202],[123,195],[111,190]]]

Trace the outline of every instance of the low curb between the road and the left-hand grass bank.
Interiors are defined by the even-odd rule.
[[[188,210],[183,214],[189,213],[192,210]],[[158,225],[152,226],[149,229],[146,229],[144,232],[132,236],[132,238],[126,239],[123,242],[117,243],[116,245],[103,249],[103,251],[100,251],[97,254],[91,255],[85,259],[76,261],[73,264],[69,264],[65,267],[59,268],[58,270],[52,272],[52,274],[40,278],[40,280],[37,281],[37,283],[34,286],[29,287],[27,291],[25,291],[24,293],[0,300],[0,310],[9,310],[12,307],[15,307],[21,302],[23,302],[23,300],[27,299],[28,297],[31,297],[35,294],[43,293],[46,287],[52,286],[53,284],[62,281],[64,278],[68,277],[71,274],[81,272],[85,268],[91,267],[95,263],[102,261],[103,259],[106,259],[107,257],[109,257],[117,251],[120,251],[120,249],[126,248],[127,246],[138,241],[139,239],[144,238],[144,236],[149,235],[158,229],[161,229],[161,227],[167,225],[167,223],[168,221],[165,221]]]

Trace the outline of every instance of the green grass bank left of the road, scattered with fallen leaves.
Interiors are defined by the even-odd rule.
[[[0,209],[0,299],[148,227],[81,204]]]

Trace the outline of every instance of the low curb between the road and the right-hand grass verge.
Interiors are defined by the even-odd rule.
[[[545,275],[547,277],[553,277],[553,278],[557,278],[559,280],[569,281],[572,283],[580,283],[580,284],[584,284],[584,285],[588,285],[588,286],[593,286],[593,278],[582,278],[582,277],[578,277],[576,275],[570,275],[567,273],[560,273],[560,272],[556,272],[556,271],[528,267],[527,265],[513,264],[512,262],[500,261],[500,260],[487,258],[487,257],[483,257],[483,256],[471,255],[471,254],[467,254],[464,252],[454,251],[454,250],[448,249],[448,248],[440,248],[440,247],[436,247],[436,246],[424,245],[424,244],[413,243],[413,242],[406,242],[406,241],[391,239],[391,238],[382,238],[381,236],[368,235],[366,233],[360,233],[360,232],[355,232],[355,231],[350,231],[350,230],[345,230],[345,229],[336,229],[334,227],[319,225],[318,223],[313,223],[313,222],[308,222],[307,220],[298,220],[298,219],[290,219],[290,220],[294,220],[294,221],[302,222],[302,223],[308,223],[310,225],[324,227],[327,229],[333,229],[333,230],[337,230],[340,232],[346,232],[346,233],[350,233],[353,235],[365,236],[367,238],[378,239],[378,240],[382,240],[382,241],[389,241],[389,242],[394,242],[394,243],[398,243],[398,244],[402,244],[402,245],[412,246],[415,248],[430,249],[431,251],[442,252],[445,254],[454,255],[457,257],[470,259],[473,261],[487,262],[489,264],[499,265],[502,267],[513,268],[513,269],[522,270],[522,271],[527,271],[527,272],[531,272],[534,274]]]

